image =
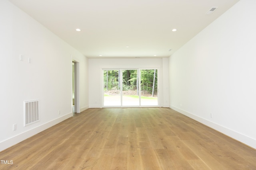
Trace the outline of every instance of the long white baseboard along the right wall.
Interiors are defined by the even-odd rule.
[[[219,125],[218,123],[214,123],[212,121],[209,121],[207,119],[204,119],[202,117],[194,115],[193,113],[190,113],[188,111],[184,111],[178,107],[170,106],[170,108],[174,109],[175,111],[178,111],[179,113],[182,113],[183,115],[190,117],[191,119],[199,121],[200,123],[202,123],[208,127],[211,127],[212,129],[215,129],[216,131],[219,131],[220,133],[223,133],[224,135],[227,135],[241,143],[244,143],[245,145],[248,145],[249,147],[256,149],[256,139],[253,139],[251,137],[248,137],[246,135],[238,133],[232,129],[229,129],[227,127]]]

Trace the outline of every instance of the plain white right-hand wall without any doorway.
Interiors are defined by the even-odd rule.
[[[254,148],[255,8],[240,0],[169,59],[170,107]]]

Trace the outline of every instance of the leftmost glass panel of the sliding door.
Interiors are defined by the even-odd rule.
[[[104,106],[121,106],[120,70],[103,70]]]

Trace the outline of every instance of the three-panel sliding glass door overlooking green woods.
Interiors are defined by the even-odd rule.
[[[158,106],[157,69],[103,70],[103,107]]]

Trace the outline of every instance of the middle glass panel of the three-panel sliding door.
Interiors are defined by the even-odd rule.
[[[138,70],[122,70],[122,106],[139,106]]]

